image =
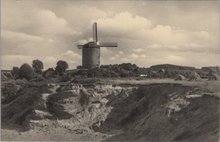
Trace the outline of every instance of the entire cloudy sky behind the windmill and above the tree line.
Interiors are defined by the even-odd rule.
[[[101,64],[220,65],[219,1],[1,0],[1,68],[33,59],[81,64],[77,43],[117,42]]]

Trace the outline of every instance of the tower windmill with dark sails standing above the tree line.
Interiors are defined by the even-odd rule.
[[[77,47],[82,49],[83,68],[90,69],[100,65],[100,47],[117,47],[117,43],[98,42],[97,23],[93,23],[93,41]]]

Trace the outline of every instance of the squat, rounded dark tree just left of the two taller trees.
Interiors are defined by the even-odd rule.
[[[29,64],[23,64],[19,69],[19,78],[30,80],[34,77],[34,71]]]

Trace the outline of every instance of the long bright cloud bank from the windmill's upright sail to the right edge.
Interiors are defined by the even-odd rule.
[[[206,52],[214,49],[213,52],[215,52],[218,47],[218,43],[215,43],[217,41],[216,37],[212,37],[208,31],[188,31],[170,25],[155,24],[146,17],[133,15],[129,12],[116,13],[112,17],[94,21],[98,23],[100,36],[104,37],[102,39],[117,38],[116,40],[123,47],[135,48],[134,52],[148,49],[178,50],[179,52],[191,51],[191,49],[192,52],[197,52],[198,50],[200,50],[199,52]],[[137,40],[138,43],[125,43],[122,42],[122,39],[132,40],[132,42]],[[197,46],[191,46],[190,43]]]

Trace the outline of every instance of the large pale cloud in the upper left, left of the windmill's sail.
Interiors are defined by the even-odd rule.
[[[6,14],[2,16],[3,29],[36,35],[80,34],[74,31],[65,19],[58,17],[49,9],[19,9],[19,7],[21,8],[21,6],[5,8]]]

